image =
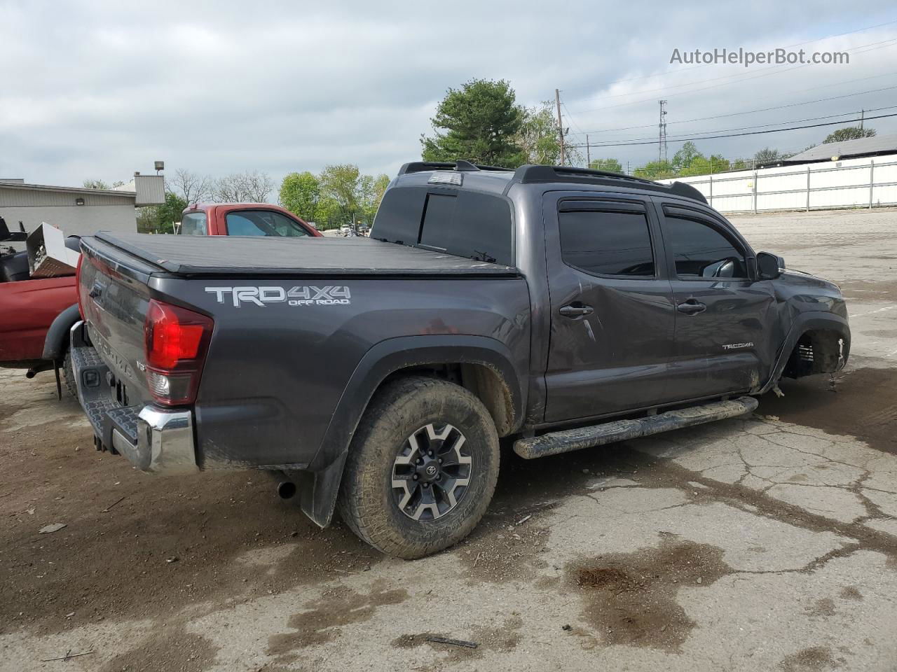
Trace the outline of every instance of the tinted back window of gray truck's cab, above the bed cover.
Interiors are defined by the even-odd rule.
[[[491,194],[394,187],[383,197],[371,237],[514,264],[510,205]]]

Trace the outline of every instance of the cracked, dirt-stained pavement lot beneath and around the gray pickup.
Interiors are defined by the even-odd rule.
[[[897,668],[897,212],[733,221],[840,283],[848,368],[752,418],[506,451],[474,534],[414,562],[261,473],[135,471],[51,374],[0,370],[0,670]]]

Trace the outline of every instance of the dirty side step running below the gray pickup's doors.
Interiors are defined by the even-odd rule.
[[[670,429],[681,429],[705,422],[737,418],[751,413],[759,402],[753,397],[739,397],[729,401],[714,401],[687,409],[667,410],[648,418],[636,420],[613,420],[601,425],[565,429],[551,432],[531,439],[518,439],[514,442],[514,452],[524,460],[535,460],[537,457],[557,455],[561,452],[578,451],[580,448],[593,448],[597,445],[612,444],[615,441],[626,441],[668,432]]]

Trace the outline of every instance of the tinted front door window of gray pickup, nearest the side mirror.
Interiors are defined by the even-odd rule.
[[[745,254],[717,228],[697,220],[666,217],[664,240],[680,278],[746,278]]]

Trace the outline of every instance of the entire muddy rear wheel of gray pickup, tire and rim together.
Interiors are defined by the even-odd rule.
[[[401,378],[361,418],[339,512],[388,556],[428,556],[474,529],[498,473],[499,439],[482,401],[440,379]]]

